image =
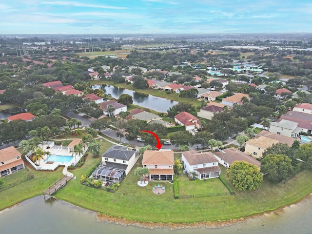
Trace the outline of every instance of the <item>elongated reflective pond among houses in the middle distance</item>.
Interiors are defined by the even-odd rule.
[[[159,98],[153,95],[140,94],[129,89],[122,89],[113,85],[94,85],[93,89],[102,89],[106,94],[111,94],[112,98],[119,98],[121,94],[128,94],[133,98],[133,104],[142,106],[158,112],[167,112],[170,107],[178,102],[166,98]]]

